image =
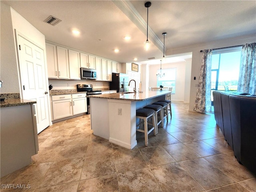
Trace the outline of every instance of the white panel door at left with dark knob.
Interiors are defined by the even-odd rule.
[[[50,125],[44,51],[18,35],[22,98],[36,101],[37,132]]]

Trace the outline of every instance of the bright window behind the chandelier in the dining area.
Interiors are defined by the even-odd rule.
[[[160,72],[160,69],[157,72]],[[176,68],[162,69],[162,73],[165,73],[165,76],[157,77],[157,87],[172,87],[172,93],[175,93]]]

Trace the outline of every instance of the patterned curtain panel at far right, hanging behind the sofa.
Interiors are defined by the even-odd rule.
[[[242,46],[238,92],[256,94],[256,43]]]

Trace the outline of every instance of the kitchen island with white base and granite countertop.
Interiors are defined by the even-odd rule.
[[[136,109],[165,99],[170,91],[112,93],[90,98],[91,128],[94,135],[132,149],[136,141]]]

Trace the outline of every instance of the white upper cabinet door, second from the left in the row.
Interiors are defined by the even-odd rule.
[[[69,79],[68,49],[57,46],[58,78]]]

